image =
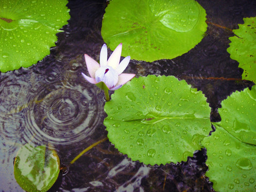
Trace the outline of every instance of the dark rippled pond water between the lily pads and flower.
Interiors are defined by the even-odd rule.
[[[206,10],[208,22],[229,29],[237,29],[244,17],[256,16],[255,1],[198,3]],[[69,25],[57,34],[51,54],[30,68],[0,74],[1,191],[23,191],[14,179],[13,158],[25,143],[50,142],[65,167],[83,149],[107,136],[104,95],[81,75],[86,71],[84,53],[99,59],[106,6],[103,0],[70,1]],[[230,30],[209,23],[202,42],[188,53],[152,63],[132,60],[125,72],[185,79],[206,95],[211,120],[220,121],[220,102],[252,86],[241,80],[243,69],[227,53],[230,36]],[[107,140],[69,166],[52,191],[214,191],[204,176],[206,158],[202,149],[187,162],[146,166],[120,154]]]

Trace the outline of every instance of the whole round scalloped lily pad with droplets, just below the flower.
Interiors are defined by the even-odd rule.
[[[106,102],[109,141],[133,161],[187,161],[211,131],[211,108],[201,91],[173,76],[133,78]]]

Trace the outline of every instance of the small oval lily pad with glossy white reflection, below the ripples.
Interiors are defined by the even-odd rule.
[[[26,144],[14,161],[14,177],[26,191],[47,191],[58,178],[60,160],[54,150],[45,146],[36,148]]]

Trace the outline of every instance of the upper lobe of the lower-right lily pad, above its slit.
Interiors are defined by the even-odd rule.
[[[239,141],[256,145],[256,85],[231,94],[219,109],[222,126]]]

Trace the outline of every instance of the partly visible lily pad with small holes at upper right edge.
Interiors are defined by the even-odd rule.
[[[244,24],[238,24],[239,29],[233,30],[237,36],[229,37],[231,43],[227,51],[230,58],[239,62],[244,69],[242,78],[255,82],[256,80],[256,17],[244,18]]]

